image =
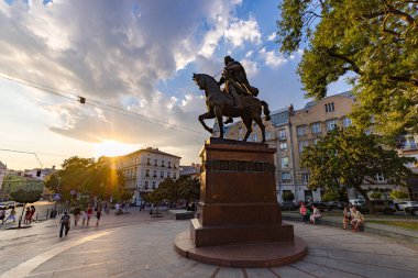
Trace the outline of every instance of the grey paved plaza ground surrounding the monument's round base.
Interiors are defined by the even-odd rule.
[[[418,246],[324,225],[292,223],[308,255],[275,268],[228,268],[179,256],[173,248],[189,221],[164,220],[68,236],[3,277],[417,277]],[[75,237],[75,238],[72,238]]]

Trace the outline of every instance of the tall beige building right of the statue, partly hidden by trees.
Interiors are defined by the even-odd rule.
[[[327,132],[337,127],[350,126],[351,119],[348,114],[351,113],[354,101],[351,93],[342,92],[319,101],[310,101],[300,110],[294,110],[290,105],[271,113],[272,120],[265,122],[266,143],[277,149],[275,166],[277,200],[279,202],[282,202],[282,194],[285,191],[292,191],[295,194],[295,202],[321,200],[321,190],[312,191],[308,188],[310,175],[309,169],[300,166],[301,152],[306,146],[315,145]],[[242,122],[226,127],[227,138],[242,140],[244,134],[245,126]],[[261,132],[256,126],[253,127],[249,141],[261,141]],[[416,147],[411,147],[416,146],[413,142],[407,146],[416,149]],[[411,155],[411,153],[408,154]],[[375,182],[364,184],[364,189],[386,190],[384,198],[387,198],[394,185],[387,184],[383,175],[373,178]],[[418,179],[415,178],[410,182],[417,181]],[[349,198],[353,199],[358,192],[349,190],[348,194]]]

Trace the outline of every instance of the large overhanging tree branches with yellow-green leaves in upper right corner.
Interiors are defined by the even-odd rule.
[[[298,67],[306,97],[349,76],[354,123],[396,138],[418,132],[417,1],[283,0],[277,21],[286,55],[306,45]]]

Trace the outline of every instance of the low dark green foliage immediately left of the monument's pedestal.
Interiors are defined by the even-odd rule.
[[[158,203],[163,200],[177,202],[178,200],[196,200],[200,194],[200,182],[197,179],[191,179],[188,176],[180,176],[173,180],[166,178],[146,197],[146,201]]]

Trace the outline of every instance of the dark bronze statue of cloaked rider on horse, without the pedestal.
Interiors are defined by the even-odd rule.
[[[213,133],[204,120],[217,119],[220,138],[223,138],[223,124],[232,123],[233,118],[241,116],[242,122],[246,127],[246,133],[243,138],[245,142],[252,132],[253,120],[260,126],[262,132],[262,143],[265,142],[265,126],[262,120],[262,112],[264,111],[264,120],[270,121],[268,104],[258,100],[258,89],[252,87],[246,79],[244,67],[235,62],[230,56],[224,57],[226,67],[222,73],[222,77],[219,80],[215,80],[213,77],[205,74],[194,74],[193,79],[197,84],[200,90],[205,90],[206,105],[208,112],[199,115],[199,122],[204,125],[205,130]],[[224,84],[223,90],[220,86]],[[228,120],[223,123],[222,116],[228,116]]]

